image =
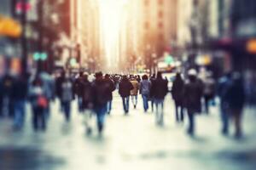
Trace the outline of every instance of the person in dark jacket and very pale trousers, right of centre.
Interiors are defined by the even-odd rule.
[[[152,83],[152,94],[155,104],[156,123],[164,124],[164,100],[168,93],[168,82],[163,79],[161,72],[157,73],[156,79]]]

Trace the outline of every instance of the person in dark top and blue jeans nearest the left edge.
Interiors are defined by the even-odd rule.
[[[18,77],[13,86],[12,98],[14,101],[14,128],[20,129],[25,122],[26,113],[26,97],[27,97],[27,81],[25,76]]]

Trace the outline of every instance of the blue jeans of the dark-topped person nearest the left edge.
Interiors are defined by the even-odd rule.
[[[22,99],[17,100],[14,103],[14,106],[15,106],[14,127],[17,127],[17,128],[23,127],[24,119],[25,119],[25,104],[26,102]]]

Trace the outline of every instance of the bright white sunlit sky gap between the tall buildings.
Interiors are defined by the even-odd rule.
[[[122,27],[125,22],[124,6],[128,0],[99,0],[102,53],[108,68],[117,69],[124,46]]]

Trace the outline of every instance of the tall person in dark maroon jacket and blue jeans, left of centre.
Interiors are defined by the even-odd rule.
[[[96,72],[96,80],[92,83],[93,108],[96,112],[97,128],[102,135],[108,103],[108,83],[102,72]]]

